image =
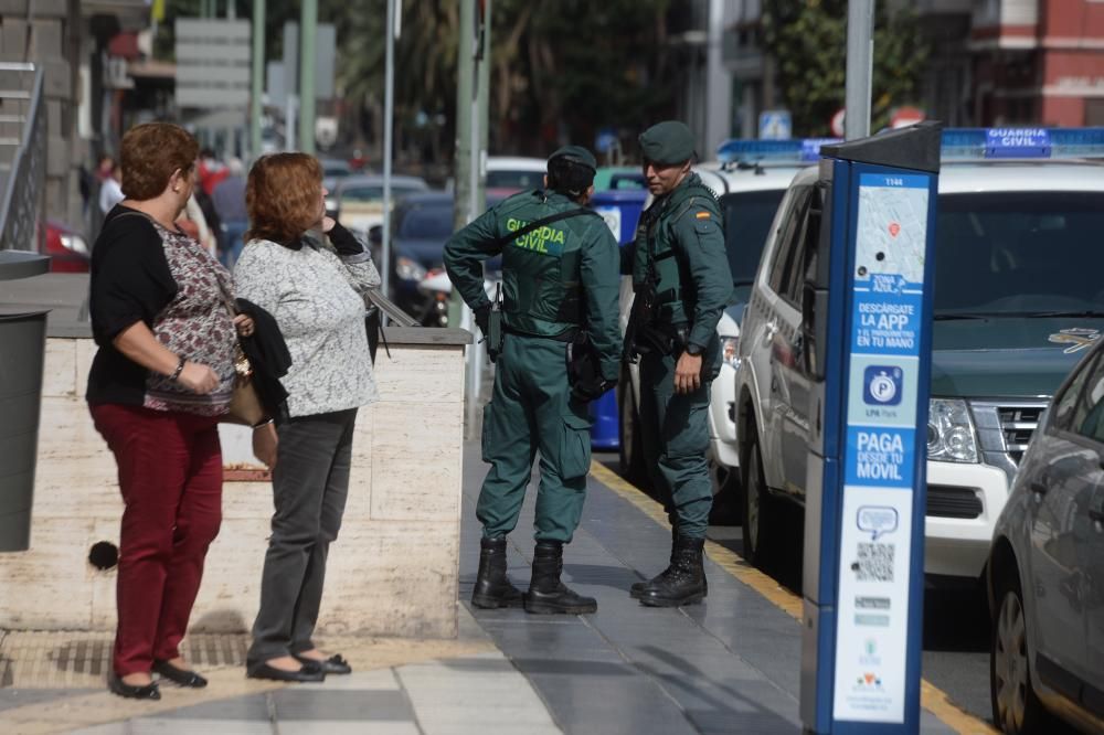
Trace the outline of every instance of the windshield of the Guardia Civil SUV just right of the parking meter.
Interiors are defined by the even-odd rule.
[[[944,194],[935,316],[1104,310],[1104,192]]]

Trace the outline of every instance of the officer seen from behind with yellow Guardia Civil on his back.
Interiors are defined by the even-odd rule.
[[[595,169],[585,148],[561,148],[549,159],[545,189],[507,199],[445,245],[448,277],[475,311],[496,360],[495,391],[484,413],[482,455],[491,467],[477,508],[484,533],[471,594],[476,607],[597,609],[594,598],[560,580],[591,465],[587,402],[616,383],[622,356],[618,246],[602,217],[585,209]],[[499,254],[505,303],[492,313],[482,262]],[[495,343],[499,316],[505,334]],[[537,548],[522,601],[507,578],[506,536],[518,523],[538,451]]]

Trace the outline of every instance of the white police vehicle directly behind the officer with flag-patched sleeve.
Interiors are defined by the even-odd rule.
[[[723,163],[701,163],[693,169],[702,183],[718,196],[734,289],[733,302],[724,310],[716,324],[723,361],[721,372],[710,391],[709,466],[714,496],[734,493],[740,484],[734,390],[740,362],[740,321],[778,203],[794,174],[808,166],[808,161],[803,160],[800,140],[785,141],[790,145],[783,147],[772,145],[771,152],[767,153],[760,150],[761,142],[729,141],[722,145],[720,153],[731,157],[731,160]],[[649,198],[647,204],[650,203]],[[625,277],[622,279],[620,294],[622,333],[628,324],[631,306],[633,279]],[[647,472],[641,457],[638,427],[639,401],[637,366],[626,365],[617,388],[620,470],[622,475],[634,481],[646,482]]]

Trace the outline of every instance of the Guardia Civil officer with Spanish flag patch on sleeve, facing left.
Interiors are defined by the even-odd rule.
[[[644,456],[672,541],[670,566],[633,585],[631,595],[644,605],[673,607],[700,603],[708,592],[709,388],[721,368],[716,322],[732,296],[732,276],[716,200],[690,170],[693,134],[669,120],[645,130],[639,142],[655,200],[622,254],[636,292],[625,352],[639,359]]]

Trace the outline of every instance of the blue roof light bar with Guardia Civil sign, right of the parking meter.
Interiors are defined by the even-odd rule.
[[[1104,128],[947,128],[941,158],[1104,158]]]

